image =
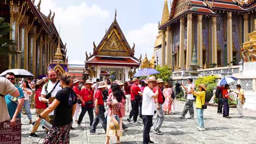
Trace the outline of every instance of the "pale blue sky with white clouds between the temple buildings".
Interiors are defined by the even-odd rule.
[[[35,2],[37,5],[38,0]],[[168,1],[170,8],[170,1]],[[55,11],[55,25],[61,27],[62,41],[67,42],[69,63],[84,63],[85,51],[92,52],[114,20],[117,21],[128,43],[135,43],[135,56],[147,51],[151,58],[158,35],[164,0],[43,0],[41,10]],[[149,59],[150,59],[149,58]]]

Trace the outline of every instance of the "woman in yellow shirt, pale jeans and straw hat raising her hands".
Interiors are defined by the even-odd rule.
[[[205,125],[203,123],[202,105],[205,104],[206,87],[205,87],[205,85],[200,84],[199,85],[199,92],[196,92],[193,87],[191,88],[191,91],[196,96],[197,121],[198,121],[198,125],[199,125],[199,127],[197,127],[197,129],[202,131],[202,130],[205,130]]]

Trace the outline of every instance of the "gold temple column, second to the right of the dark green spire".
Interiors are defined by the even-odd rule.
[[[212,63],[217,62],[217,17],[212,17]]]

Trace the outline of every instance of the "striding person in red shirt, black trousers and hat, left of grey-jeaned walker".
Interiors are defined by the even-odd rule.
[[[92,82],[91,80],[85,81],[85,88],[81,90],[80,95],[82,97],[81,101],[81,108],[82,112],[77,121],[77,127],[82,127],[81,122],[83,121],[84,115],[86,111],[88,111],[88,115],[90,117],[90,126],[94,121],[94,90],[92,89]]]

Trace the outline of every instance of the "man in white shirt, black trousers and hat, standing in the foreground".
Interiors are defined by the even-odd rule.
[[[156,85],[155,76],[150,76],[145,83],[148,86],[143,91],[142,100],[142,119],[144,123],[143,129],[143,143],[154,143],[150,140],[150,128],[152,127],[152,120],[155,111],[154,99],[158,98],[159,87]],[[153,92],[154,87],[156,87],[156,92]]]

